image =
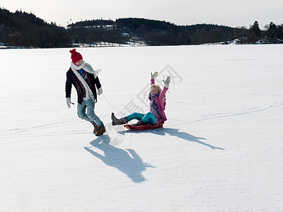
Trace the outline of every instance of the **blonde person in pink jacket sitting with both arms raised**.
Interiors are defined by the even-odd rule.
[[[119,125],[119,124],[127,124],[132,119],[137,119],[138,122],[135,124],[136,126],[140,126],[142,124],[151,124],[154,126],[161,122],[165,122],[167,120],[166,114],[164,112],[165,105],[166,105],[166,91],[168,90],[169,83],[171,81],[170,76],[166,78],[166,81],[163,80],[164,88],[161,88],[155,84],[154,78],[158,75],[156,71],[154,74],[151,73],[151,92],[149,93],[149,106],[150,110],[146,114],[134,112],[129,114],[127,117],[123,117],[121,119],[117,119],[112,112],[111,119],[112,125]]]

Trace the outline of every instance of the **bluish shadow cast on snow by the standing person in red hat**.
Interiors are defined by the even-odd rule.
[[[97,139],[91,141],[90,147],[85,147],[86,151],[96,156],[105,163],[105,165],[112,166],[125,173],[127,177],[132,179],[132,182],[143,182],[146,180],[142,172],[146,167],[154,167],[144,163],[139,155],[131,148],[127,151],[122,148],[109,145],[110,137],[108,135],[99,136]],[[103,151],[104,155],[97,153],[93,147]]]

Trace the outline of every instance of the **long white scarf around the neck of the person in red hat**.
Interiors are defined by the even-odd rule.
[[[86,97],[83,98],[83,100],[86,101],[86,100],[88,100],[88,98],[91,97],[93,99],[93,101],[95,102],[96,99],[93,95],[93,92],[91,91],[91,88],[89,88],[88,83],[86,83],[86,81],[83,79],[83,77],[81,76],[79,71],[77,71],[77,70],[81,70],[81,69],[83,69],[84,71],[86,71],[88,73],[93,73],[95,78],[98,76],[101,69],[94,70],[93,67],[91,66],[91,64],[86,63],[84,60],[83,60],[83,64],[81,64],[81,66],[77,66],[76,64],[74,64],[73,61],[71,61],[71,71],[73,71],[74,74],[76,75],[76,77],[79,78],[79,81],[81,81],[81,83],[83,84],[83,87],[86,90]]]

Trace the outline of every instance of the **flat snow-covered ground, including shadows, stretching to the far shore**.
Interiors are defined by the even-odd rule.
[[[78,48],[100,137],[67,108],[69,50],[0,51],[0,211],[283,210],[283,45]],[[111,126],[147,112],[151,71],[172,78],[164,128]]]

